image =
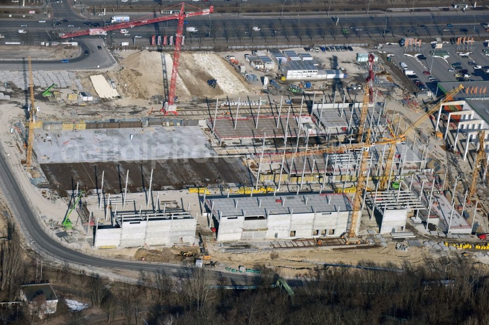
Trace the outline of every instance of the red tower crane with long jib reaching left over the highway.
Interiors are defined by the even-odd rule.
[[[165,115],[172,113],[172,114],[178,114],[177,113],[177,107],[175,105],[175,92],[176,92],[176,87],[177,87],[177,76],[178,76],[178,61],[180,60],[180,50],[181,50],[181,43],[182,43],[182,36],[183,36],[183,23],[185,18],[187,17],[192,17],[192,16],[200,16],[200,15],[208,15],[211,12],[214,11],[214,7],[210,6],[208,9],[200,9],[198,7],[192,6],[190,4],[185,4],[185,3],[180,3],[175,6],[163,9],[165,11],[170,10],[172,8],[180,7],[180,11],[178,13],[168,15],[168,16],[162,16],[158,18],[149,18],[149,19],[138,19],[138,20],[131,20],[131,21],[126,21],[126,22],[121,22],[118,24],[110,25],[110,26],[104,26],[100,28],[90,28],[86,30],[81,30],[77,32],[68,32],[68,33],[62,33],[60,34],[60,37],[63,39],[70,38],[70,37],[77,37],[77,36],[83,36],[83,35],[100,35],[103,32],[107,32],[110,30],[116,30],[116,29],[123,29],[123,28],[133,28],[135,26],[141,26],[141,25],[146,25],[146,24],[152,24],[155,22],[160,22],[160,21],[165,21],[165,20],[178,20],[178,26],[177,26],[177,38],[175,40],[175,52],[173,55],[173,68],[172,68],[172,78],[170,80],[170,87],[168,89],[168,101],[165,102],[163,108],[161,108],[161,112],[164,112]],[[185,7],[191,7],[193,12],[186,12]]]

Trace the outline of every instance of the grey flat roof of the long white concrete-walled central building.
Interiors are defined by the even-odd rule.
[[[306,204],[307,201],[307,204]],[[342,193],[281,193],[260,196],[207,196],[206,205],[216,217],[267,216],[270,214],[352,211],[352,203]],[[213,205],[214,204],[214,205]]]

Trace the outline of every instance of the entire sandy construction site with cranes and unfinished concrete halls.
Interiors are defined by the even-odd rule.
[[[5,154],[68,247],[293,276],[317,262],[458,260],[451,244],[489,231],[487,105],[464,85],[413,100],[360,46],[339,59],[180,43],[181,30],[173,54],[116,52],[96,73],[2,71],[1,107],[27,112],[2,114]]]

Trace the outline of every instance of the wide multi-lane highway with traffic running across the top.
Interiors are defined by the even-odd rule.
[[[2,41],[23,41],[25,39],[50,41],[55,35],[62,32],[87,29],[84,21],[98,22],[103,26],[104,21],[110,20],[112,14],[106,16],[87,16],[84,19],[78,13],[70,11],[67,2],[54,3],[53,12],[57,19],[67,19],[67,23],[57,25],[53,29],[53,20],[39,23],[37,20],[9,20],[0,21],[0,33],[5,36]],[[115,13],[121,14],[121,13]],[[131,19],[142,17],[158,17],[159,14],[134,15],[125,14]],[[485,36],[486,32],[481,23],[488,22],[486,14],[472,15],[444,13],[437,14],[417,13],[409,15],[394,13],[390,15],[285,15],[280,14],[263,16],[246,16],[238,14],[211,14],[208,16],[193,17],[187,19],[187,26],[196,27],[198,33],[187,33],[187,44],[202,43],[273,43],[290,42],[297,43],[323,43],[333,42],[358,42],[370,40],[394,40],[402,37],[434,38],[436,36]],[[27,24],[27,27],[21,27]],[[448,27],[447,24],[453,26]],[[73,25],[74,27],[68,27]],[[112,31],[107,40],[114,44],[121,41],[129,41],[136,45],[148,44],[152,35],[174,35],[177,26],[176,20],[149,24],[129,29],[129,35],[124,36],[118,30]],[[253,26],[261,28],[260,31],[252,31]],[[13,29],[12,27],[16,28]],[[17,28],[23,28],[29,36],[17,33]],[[385,32],[384,32],[385,31]],[[134,39],[135,36],[141,38]],[[96,38],[84,36],[81,39]]]

